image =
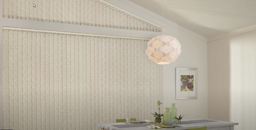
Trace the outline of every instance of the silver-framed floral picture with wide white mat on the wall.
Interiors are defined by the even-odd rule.
[[[197,99],[197,68],[176,68],[176,99]]]

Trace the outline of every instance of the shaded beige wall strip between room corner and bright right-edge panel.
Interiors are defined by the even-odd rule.
[[[227,43],[227,44],[225,44]],[[229,121],[229,44],[208,42],[208,118]]]

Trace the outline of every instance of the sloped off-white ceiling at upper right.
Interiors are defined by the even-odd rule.
[[[130,1],[162,15],[162,0]],[[207,38],[256,25],[256,0],[164,0],[164,17]]]

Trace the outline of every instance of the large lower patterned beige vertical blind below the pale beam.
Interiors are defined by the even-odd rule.
[[[149,119],[163,67],[145,40],[4,29],[4,129],[95,130]]]

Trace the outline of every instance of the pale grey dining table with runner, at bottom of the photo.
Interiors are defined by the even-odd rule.
[[[152,130],[146,126],[157,125],[156,123],[136,123],[126,124],[110,123],[98,124],[101,130]],[[191,128],[199,128],[207,126],[207,130],[234,130],[234,126],[238,125],[235,122],[211,120],[211,119],[182,119],[180,124],[176,124],[173,128],[161,128],[162,130],[189,130]],[[168,125],[167,125],[168,126]],[[172,125],[169,125],[172,126]]]

